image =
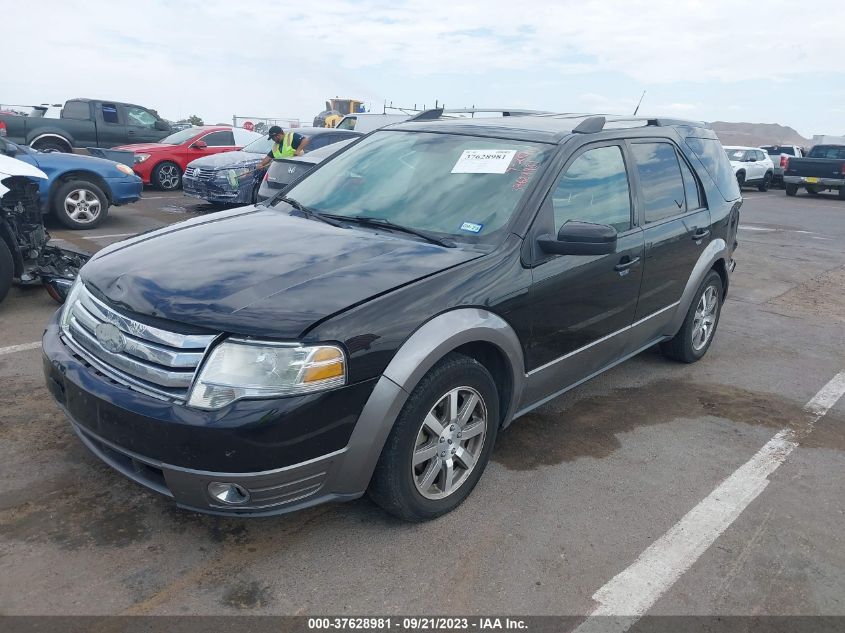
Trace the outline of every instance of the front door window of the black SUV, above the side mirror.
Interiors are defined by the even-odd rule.
[[[567,168],[552,192],[555,231],[569,220],[631,228],[631,196],[622,149],[597,147]]]

